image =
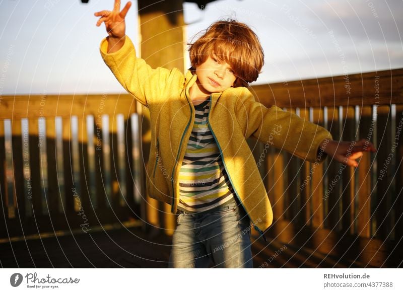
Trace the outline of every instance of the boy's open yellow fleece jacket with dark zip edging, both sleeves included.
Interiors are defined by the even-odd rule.
[[[151,150],[147,170],[150,197],[171,204],[177,211],[179,170],[194,123],[189,88],[197,77],[177,69],[151,68],[136,57],[130,38],[118,51],[107,53],[104,38],[100,52],[113,75],[151,117]],[[331,139],[324,128],[297,115],[255,101],[247,88],[229,88],[211,96],[209,126],[221,152],[235,194],[261,234],[273,222],[273,211],[246,139],[250,136],[314,162],[321,141]]]

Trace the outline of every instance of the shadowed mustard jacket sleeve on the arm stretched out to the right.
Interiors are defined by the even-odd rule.
[[[326,158],[317,153],[324,139],[332,139],[323,127],[277,106],[266,108],[256,102],[246,88],[236,103],[236,111],[238,123],[243,124],[246,138],[253,136],[310,162]]]

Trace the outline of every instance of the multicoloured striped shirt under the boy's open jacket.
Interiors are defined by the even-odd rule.
[[[194,124],[179,172],[178,209],[189,213],[234,200],[233,188],[208,124],[210,99],[194,109]]]

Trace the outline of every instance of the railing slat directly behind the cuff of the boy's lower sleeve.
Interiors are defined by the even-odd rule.
[[[313,109],[312,121],[323,127],[323,109]],[[319,159],[318,159],[319,160]],[[323,209],[323,165],[311,164],[311,180],[312,180],[312,225],[313,227],[323,228],[324,209]]]

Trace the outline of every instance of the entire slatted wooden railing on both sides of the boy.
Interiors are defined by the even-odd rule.
[[[353,169],[329,159],[308,163],[249,139],[274,209],[266,235],[358,266],[401,265],[403,69],[251,91],[333,139],[367,138],[377,148]],[[145,110],[129,95],[1,97],[0,239],[123,222],[171,234],[169,206],[146,196]]]

